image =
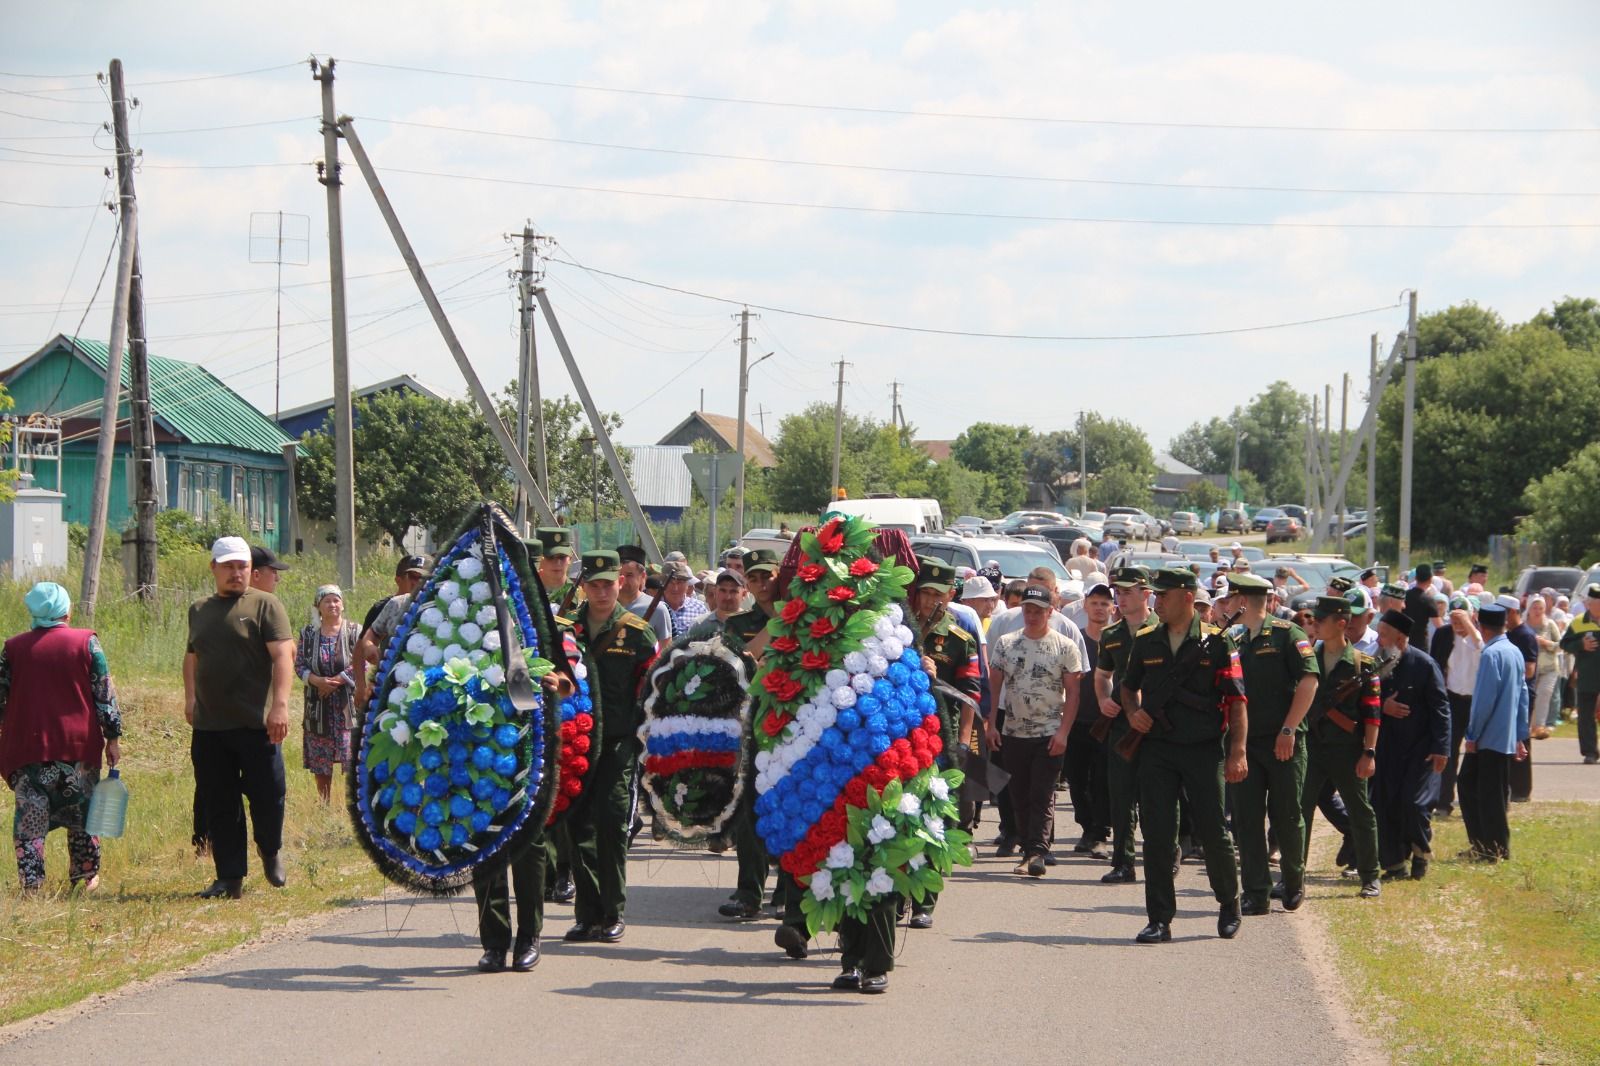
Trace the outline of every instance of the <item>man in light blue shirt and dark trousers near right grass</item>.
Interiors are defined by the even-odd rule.
[[[1528,685],[1522,651],[1506,639],[1506,608],[1478,608],[1483,653],[1472,688],[1472,717],[1456,778],[1461,821],[1470,850],[1462,858],[1493,863],[1510,858],[1510,765],[1528,757]]]

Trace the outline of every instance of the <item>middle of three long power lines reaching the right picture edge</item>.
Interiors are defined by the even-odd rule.
[[[376,118],[360,115],[362,122],[382,122],[390,126],[410,126],[416,130],[437,130],[443,133],[464,133],[472,136],[507,138],[514,141],[536,141],[539,144],[563,144],[570,147],[605,149],[611,152],[645,152],[650,155],[680,155],[686,158],[709,158],[731,163],[766,163],[773,166],[806,166],[818,170],[858,170],[877,174],[914,174],[925,178],[971,178],[981,181],[1026,181],[1069,186],[1110,186],[1118,189],[1194,189],[1203,192],[1290,192],[1317,195],[1392,195],[1392,197],[1597,197],[1600,192],[1560,192],[1560,190],[1466,190],[1466,189],[1334,189],[1317,186],[1242,186],[1242,184],[1206,184],[1192,181],[1131,181],[1120,178],[1062,178],[1054,174],[1011,174],[998,171],[966,171],[938,170],[925,166],[883,166],[874,163],[840,163],[827,160],[782,158],[771,155],[733,155],[726,152],[699,152],[693,149],[656,147],[646,144],[619,144],[608,141],[576,141],[571,138],[547,138],[533,133],[509,133],[504,130],[474,130],[467,126],[446,126],[435,122],[408,122],[402,118]]]

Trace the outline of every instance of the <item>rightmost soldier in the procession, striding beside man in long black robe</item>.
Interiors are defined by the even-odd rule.
[[[1317,664],[1322,683],[1310,704],[1310,735],[1306,743],[1306,786],[1301,813],[1310,828],[1322,787],[1333,781],[1350,813],[1350,840],[1355,869],[1362,876],[1362,896],[1381,892],[1378,882],[1378,813],[1366,792],[1366,781],[1378,767],[1378,723],[1382,680],[1373,656],[1357,651],[1346,639],[1350,603],[1341,595],[1317,597]],[[1310,832],[1306,834],[1310,847]],[[1288,853],[1285,842],[1282,852]]]

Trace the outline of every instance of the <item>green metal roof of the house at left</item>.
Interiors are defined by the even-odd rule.
[[[61,336],[94,365],[104,378],[110,347],[104,341]],[[270,418],[195,363],[150,355],[150,408],[157,419],[192,443],[230,445],[282,455],[294,443]],[[122,386],[128,387],[128,357],[122,360]]]

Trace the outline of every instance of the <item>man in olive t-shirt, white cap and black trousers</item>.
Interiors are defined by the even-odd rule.
[[[243,895],[245,804],[267,882],[283,887],[283,751],[294,685],[294,634],[275,595],[250,587],[250,544],[211,546],[216,595],[189,608],[184,717],[189,757],[211,834],[216,880],[205,900]]]

